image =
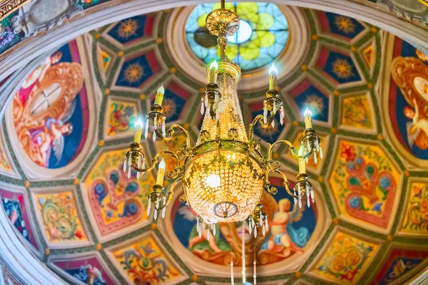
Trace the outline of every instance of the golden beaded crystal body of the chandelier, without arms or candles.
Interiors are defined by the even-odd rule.
[[[222,95],[221,106],[211,107],[208,93],[203,98],[202,106],[207,110],[195,157],[185,165],[185,196],[209,224],[246,219],[263,195],[263,157],[246,145],[248,138],[235,86],[239,78],[239,67],[221,58],[216,81]]]

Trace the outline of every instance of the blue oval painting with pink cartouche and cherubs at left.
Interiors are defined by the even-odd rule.
[[[68,145],[66,149],[65,141],[73,134],[72,116],[81,113],[78,93],[83,71],[80,63],[60,62],[62,51],[71,53],[66,45],[46,58],[21,84],[13,101],[14,125],[22,147],[31,160],[47,168],[63,167],[73,157],[68,153],[70,159],[63,159],[64,151],[78,148]],[[81,134],[76,136],[80,139]]]

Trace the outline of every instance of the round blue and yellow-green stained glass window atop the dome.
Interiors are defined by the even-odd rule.
[[[205,28],[205,19],[220,4],[200,4],[193,9],[185,24],[190,49],[200,60],[208,63],[220,56],[217,38]],[[243,71],[265,66],[277,58],[288,40],[288,23],[282,11],[272,3],[226,3],[226,9],[235,11],[240,28],[228,37],[226,55],[240,65]]]

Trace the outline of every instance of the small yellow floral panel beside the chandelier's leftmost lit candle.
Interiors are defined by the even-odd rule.
[[[110,137],[131,130],[136,115],[137,105],[135,103],[111,101],[108,107],[107,135]]]

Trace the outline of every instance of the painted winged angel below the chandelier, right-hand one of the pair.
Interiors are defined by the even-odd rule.
[[[270,252],[287,252],[287,254],[303,252],[302,247],[305,247],[310,238],[309,230],[305,227],[295,229],[292,223],[302,219],[305,207],[299,208],[295,204],[291,211],[290,208],[289,199],[280,199],[277,212],[270,222],[270,233],[261,249],[267,249]]]

